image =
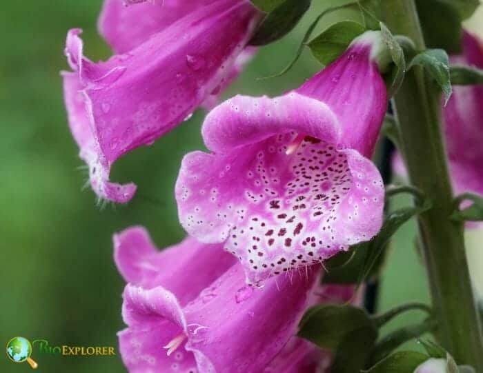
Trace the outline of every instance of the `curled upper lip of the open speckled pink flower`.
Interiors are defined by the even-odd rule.
[[[296,92],[275,99],[233,97],[206,116],[201,131],[206,147],[215,153],[290,131],[331,143],[338,143],[341,133],[337,117],[326,104]]]

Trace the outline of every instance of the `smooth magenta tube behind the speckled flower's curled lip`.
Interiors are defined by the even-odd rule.
[[[355,43],[297,89],[326,103],[341,124],[344,146],[368,158],[374,152],[387,108],[386,85],[371,59],[371,48],[371,43]]]

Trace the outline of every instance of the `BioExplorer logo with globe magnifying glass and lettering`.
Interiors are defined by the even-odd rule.
[[[49,345],[46,339],[30,341],[23,336],[16,336],[7,343],[8,359],[14,363],[27,361],[33,369],[39,366],[30,355],[32,350],[39,354],[62,355],[62,356],[108,356],[115,355],[115,349],[111,346],[72,346],[72,345]]]

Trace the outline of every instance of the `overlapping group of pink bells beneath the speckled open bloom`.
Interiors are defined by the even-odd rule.
[[[353,288],[322,287],[311,270],[255,289],[220,244],[188,238],[159,252],[142,228],[114,241],[128,281],[119,343],[130,372],[302,373],[330,364],[330,354],[294,336],[297,323],[317,301],[351,300]]]

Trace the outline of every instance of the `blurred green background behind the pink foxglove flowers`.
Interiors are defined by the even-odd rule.
[[[119,0],[121,1],[121,0]],[[141,224],[160,248],[184,236],[173,188],[181,157],[201,148],[197,112],[154,145],[118,161],[114,181],[139,189],[128,205],[96,205],[77,157],[63,107],[59,71],[69,28],[83,28],[86,54],[106,59],[97,34],[101,0],[5,1],[0,12],[0,342],[12,336],[48,339],[50,345],[114,345],[124,282],[112,261],[113,232]],[[225,97],[280,94],[320,66],[308,52],[284,77],[257,80],[282,70],[319,12],[308,12],[294,32],[260,50]],[[341,17],[346,17],[346,14]],[[322,22],[327,26],[331,19]],[[399,203],[408,203],[405,200]],[[426,281],[413,248],[414,226],[398,232],[382,279],[380,309],[427,299]],[[409,313],[388,330],[420,319]],[[124,372],[119,356],[71,357],[35,353],[39,372]],[[0,358],[0,372],[30,370]]]

